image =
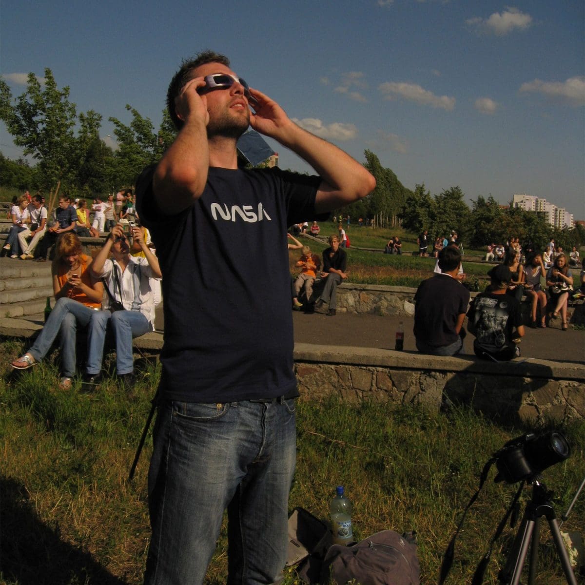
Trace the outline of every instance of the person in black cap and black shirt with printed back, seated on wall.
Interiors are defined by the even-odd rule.
[[[512,280],[507,266],[495,266],[488,273],[491,284],[472,302],[467,313],[467,329],[476,336],[473,350],[481,359],[495,362],[511,360],[520,355],[514,343],[514,327],[518,337],[524,335],[520,303],[511,295],[505,294]]]

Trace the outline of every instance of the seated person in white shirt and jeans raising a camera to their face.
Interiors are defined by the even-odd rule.
[[[116,225],[91,264],[94,277],[105,284],[107,298],[105,311],[97,312],[90,322],[89,344],[96,353],[84,377],[86,390],[101,382],[106,326],[115,336],[116,373],[127,390],[135,383],[132,339],[154,331],[150,278],[162,278],[159,261],[144,242],[140,228],[132,228],[132,238],[139,243],[144,257],[130,256],[128,234]],[[110,252],[112,259],[108,258]]]

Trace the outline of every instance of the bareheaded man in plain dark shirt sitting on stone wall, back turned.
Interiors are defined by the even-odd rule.
[[[457,280],[460,264],[455,246],[441,250],[441,273],[422,281],[414,295],[414,336],[421,353],[454,356],[463,347],[469,291]]]

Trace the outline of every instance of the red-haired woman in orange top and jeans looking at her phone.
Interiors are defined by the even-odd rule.
[[[55,306],[47,322],[25,355],[11,363],[15,370],[26,370],[47,355],[53,341],[61,333],[61,368],[59,388],[68,390],[75,376],[75,342],[77,327],[85,327],[94,311],[101,307],[104,285],[91,276],[91,256],[82,253],[81,242],[73,232],[57,240],[56,254],[51,266]]]

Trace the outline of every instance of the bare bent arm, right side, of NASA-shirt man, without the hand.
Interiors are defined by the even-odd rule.
[[[329,211],[366,197],[376,187],[373,176],[349,154],[290,122],[278,136],[278,142],[306,160],[321,176],[315,211]]]

